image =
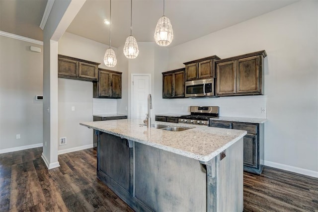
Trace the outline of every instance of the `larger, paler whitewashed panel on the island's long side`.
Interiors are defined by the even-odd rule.
[[[135,197],[156,212],[206,211],[205,165],[135,142]]]

